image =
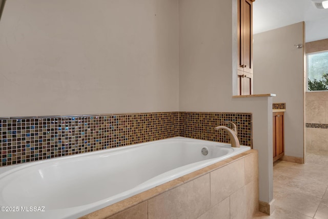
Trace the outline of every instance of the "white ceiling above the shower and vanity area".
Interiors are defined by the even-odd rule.
[[[307,42],[328,38],[328,9],[317,9],[311,0],[256,0],[253,3],[254,34],[302,21],[305,21]],[[317,36],[318,32],[325,36]]]

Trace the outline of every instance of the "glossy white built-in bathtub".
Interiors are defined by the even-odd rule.
[[[77,218],[247,150],[174,137],[13,166],[0,174],[0,218]]]

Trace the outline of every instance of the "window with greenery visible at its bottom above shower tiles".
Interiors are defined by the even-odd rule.
[[[306,54],[308,91],[328,90],[328,51]]]

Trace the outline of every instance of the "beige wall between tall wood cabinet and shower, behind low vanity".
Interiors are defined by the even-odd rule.
[[[285,155],[303,157],[303,22],[254,34],[254,92],[276,93],[276,103],[286,103]]]

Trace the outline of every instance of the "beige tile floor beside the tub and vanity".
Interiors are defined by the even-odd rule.
[[[305,164],[277,161],[273,167],[275,212],[257,219],[328,219],[328,153],[308,152]]]

